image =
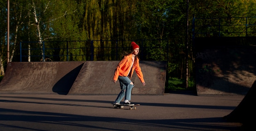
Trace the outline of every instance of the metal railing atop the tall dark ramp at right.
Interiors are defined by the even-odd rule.
[[[192,32],[193,38],[256,36],[256,17],[193,17]]]

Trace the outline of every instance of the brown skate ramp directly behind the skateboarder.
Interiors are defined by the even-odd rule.
[[[83,65],[69,94],[117,94],[120,92],[119,81],[112,82],[115,68],[119,61],[87,61]],[[166,62],[140,61],[146,86],[142,86],[134,72],[132,82],[135,87],[132,94],[163,95]]]

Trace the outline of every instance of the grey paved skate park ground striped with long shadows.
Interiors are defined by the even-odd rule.
[[[0,94],[0,131],[242,131],[222,117],[243,96],[132,95],[136,110],[114,109],[116,96]]]

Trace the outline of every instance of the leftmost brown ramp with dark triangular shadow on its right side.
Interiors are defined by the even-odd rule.
[[[84,62],[9,62],[0,93],[67,94]]]

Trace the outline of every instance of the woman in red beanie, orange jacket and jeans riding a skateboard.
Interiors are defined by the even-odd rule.
[[[132,87],[134,87],[133,82],[130,79],[132,78],[134,70],[136,71],[139,80],[142,82],[142,85],[145,85],[143,74],[141,72],[141,68],[139,67],[139,58],[137,56],[138,53],[139,45],[132,42],[130,53],[124,51],[124,56],[115,69],[113,82],[115,83],[117,80],[119,80],[121,91],[113,104],[120,105],[121,100],[125,97],[124,105],[134,105],[130,103]]]

